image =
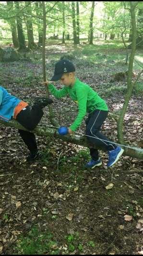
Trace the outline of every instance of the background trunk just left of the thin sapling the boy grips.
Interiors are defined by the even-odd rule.
[[[36,15],[37,16],[41,16],[42,15],[42,4],[40,1],[36,1],[35,2],[35,6],[36,6]],[[41,46],[42,45],[42,41],[43,41],[43,27],[42,27],[42,20],[38,19],[37,21],[37,26],[38,26],[38,45]]]

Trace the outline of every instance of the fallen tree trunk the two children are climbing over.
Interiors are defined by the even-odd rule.
[[[11,120],[9,122],[5,122],[0,120],[0,123],[4,124],[5,126],[9,126],[9,127],[13,127],[16,129],[21,129],[21,130],[26,130],[21,124],[19,124],[19,122],[15,121],[15,120]],[[44,128],[44,127],[40,127],[37,126],[34,131],[32,131],[33,133],[37,134],[37,135],[41,135],[41,136],[46,136],[46,137],[57,137],[63,141],[67,141],[69,143],[73,143],[73,144],[77,144],[77,145],[81,145],[83,147],[89,147],[89,148],[96,148],[96,149],[101,149],[99,147],[96,147],[95,145],[92,145],[91,143],[89,143],[86,139],[86,136],[80,136],[80,135],[59,135],[59,133],[57,132],[57,129],[53,129],[52,126],[50,128]],[[135,148],[135,147],[130,147],[130,148],[126,148],[126,146],[122,146],[122,148],[124,148],[124,155],[125,156],[130,156],[133,158],[137,158],[137,159],[143,159],[143,149],[142,148]]]

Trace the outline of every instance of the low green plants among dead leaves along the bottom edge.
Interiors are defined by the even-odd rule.
[[[64,235],[64,237],[62,237],[62,242],[64,243],[57,241],[52,232],[46,230],[41,231],[37,225],[34,225],[29,232],[24,235],[19,235],[17,243],[13,245],[13,254],[59,255],[60,251],[65,248],[67,253],[72,253],[74,250],[78,250],[78,252],[82,254],[85,247],[95,247],[94,241],[89,240],[83,244],[79,232]]]

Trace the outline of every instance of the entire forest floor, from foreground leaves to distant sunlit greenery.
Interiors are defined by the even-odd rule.
[[[46,46],[48,78],[64,54],[75,64],[76,76],[106,100],[110,112],[118,114],[127,84],[109,81],[112,74],[128,69],[121,42],[97,40],[92,46],[73,47],[51,41]],[[35,96],[45,94],[41,50],[27,57],[1,63],[0,83],[32,103]],[[141,51],[135,58],[133,69],[138,74],[139,64],[143,66]],[[143,148],[142,88],[143,77],[133,90],[124,120],[125,141],[139,148]],[[72,124],[75,103],[69,97],[50,97],[55,119],[60,125]],[[46,107],[39,126],[49,124]],[[102,132],[117,142],[114,119],[107,118]],[[84,121],[78,133],[85,133]],[[28,150],[17,130],[0,124],[0,254],[143,254],[143,161],[122,156],[107,168],[107,153],[100,151],[103,165],[86,170],[87,148],[60,139],[36,139],[42,157],[27,163]],[[113,187],[107,189],[110,183]]]

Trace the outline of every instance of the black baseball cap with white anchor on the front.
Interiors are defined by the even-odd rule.
[[[67,59],[62,59],[56,63],[54,76],[50,79],[50,81],[58,81],[60,80],[63,74],[74,71],[75,67],[72,64],[72,62]]]

